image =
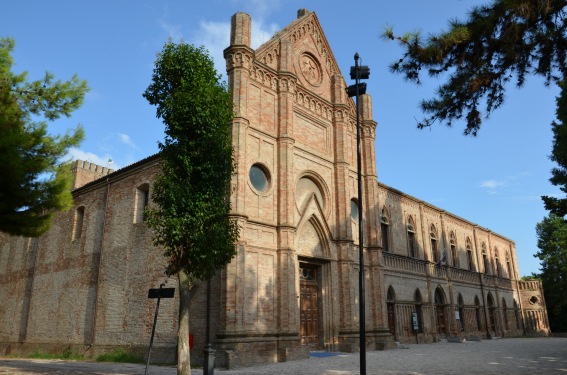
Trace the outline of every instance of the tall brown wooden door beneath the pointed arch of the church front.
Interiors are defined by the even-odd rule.
[[[300,328],[301,343],[313,349],[319,348],[319,296],[317,270],[313,267],[300,268]]]

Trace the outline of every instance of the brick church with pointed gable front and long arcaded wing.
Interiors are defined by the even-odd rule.
[[[225,59],[241,237],[212,280],[216,364],[357,351],[355,104],[315,13],[300,10],[256,50],[250,41],[250,16],[235,14]],[[359,105],[367,349],[548,335],[541,284],[520,280],[512,240],[378,182],[371,97]],[[75,208],[47,234],[0,234],[0,354],[147,348],[148,289],[166,279],[143,217],[159,156],[118,171],[77,161],[74,172]],[[204,289],[192,300],[196,364]],[[174,360],[177,306],[162,301],[152,358]]]

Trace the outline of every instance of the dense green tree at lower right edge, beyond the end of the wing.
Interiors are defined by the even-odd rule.
[[[541,261],[541,279],[553,332],[567,332],[567,221],[554,214],[536,226],[537,246],[534,257]]]

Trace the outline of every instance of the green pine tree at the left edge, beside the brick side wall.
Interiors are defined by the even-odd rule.
[[[81,126],[50,135],[47,121],[69,117],[88,88],[76,76],[61,82],[49,73],[28,82],[12,72],[13,49],[14,40],[0,39],[0,231],[36,237],[72,205],[73,176],[61,158],[84,137]]]

